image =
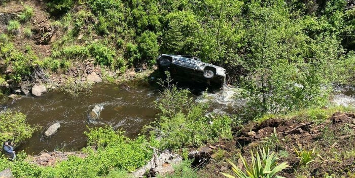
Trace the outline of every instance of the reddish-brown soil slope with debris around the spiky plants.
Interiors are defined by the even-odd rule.
[[[355,172],[354,124],[355,115],[347,113],[335,113],[325,121],[269,119],[261,123],[250,123],[235,128],[238,132],[232,141],[215,144],[226,151],[225,157],[221,160],[210,159],[209,164],[200,169],[199,173],[209,177],[223,177],[220,172],[233,175],[225,158],[242,168],[238,153],[250,162],[251,151],[255,153],[263,146],[276,152],[279,163],[288,162],[290,165],[290,168],[278,173],[280,176],[325,177],[332,174],[333,177],[352,177]],[[300,159],[293,146],[297,150],[300,147],[302,150],[315,148],[315,161],[299,165]],[[217,153],[218,148],[213,153]]]

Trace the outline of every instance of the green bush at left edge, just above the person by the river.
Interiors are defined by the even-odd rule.
[[[22,113],[4,111],[0,113],[0,140],[10,139],[19,144],[32,133],[39,129],[38,126],[30,126],[26,122],[26,116]]]

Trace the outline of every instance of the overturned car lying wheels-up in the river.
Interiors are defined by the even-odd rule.
[[[221,88],[226,80],[226,69],[202,62],[199,58],[185,55],[160,54],[158,69],[166,70],[176,81]]]

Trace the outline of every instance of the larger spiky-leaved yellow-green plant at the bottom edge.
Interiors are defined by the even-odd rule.
[[[260,153],[259,153],[260,152]],[[286,169],[289,167],[289,164],[287,162],[283,162],[281,164],[277,164],[277,156],[275,152],[269,151],[267,149],[267,152],[265,151],[264,148],[259,149],[259,152],[256,153],[256,157],[254,157],[253,152],[251,151],[252,155],[252,163],[249,165],[246,162],[246,159],[240,156],[240,159],[245,167],[246,174],[239,168],[237,167],[233,162],[227,160],[227,162],[232,165],[232,170],[236,174],[236,177],[239,178],[282,178],[282,176],[276,175],[277,172],[281,171],[282,169]],[[233,175],[227,174],[227,173],[222,173],[224,176],[228,178],[236,178]],[[285,177],[283,177],[285,178]]]

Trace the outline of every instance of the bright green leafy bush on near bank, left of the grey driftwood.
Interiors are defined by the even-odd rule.
[[[156,146],[154,141],[149,142],[145,136],[132,140],[123,133],[112,128],[93,128],[86,132],[88,144],[97,146],[97,153],[90,154],[86,160],[105,162],[97,166],[98,173],[107,174],[113,167],[133,171],[151,159],[153,150],[149,146]]]

